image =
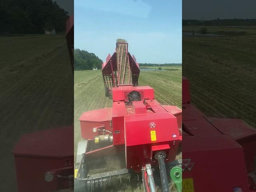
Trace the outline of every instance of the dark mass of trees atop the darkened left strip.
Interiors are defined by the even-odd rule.
[[[68,12],[52,0],[0,0],[0,34],[63,32]]]

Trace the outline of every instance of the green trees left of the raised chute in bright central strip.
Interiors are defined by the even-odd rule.
[[[74,50],[74,69],[75,70],[92,70],[93,68],[100,69],[102,60],[94,53],[89,53],[85,50]]]

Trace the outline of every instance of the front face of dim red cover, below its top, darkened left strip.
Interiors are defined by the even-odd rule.
[[[74,144],[70,144],[70,146],[74,148]],[[69,188],[68,180],[57,178],[57,174],[62,176],[74,175],[74,168],[56,172],[54,179],[50,182],[44,180],[44,175],[47,172],[63,168],[67,162],[68,164],[73,165],[74,155],[63,158],[42,158],[15,155],[18,192],[49,192]]]

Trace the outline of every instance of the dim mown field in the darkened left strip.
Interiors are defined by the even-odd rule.
[[[64,36],[0,37],[0,42],[0,189],[15,192],[11,151],[22,134],[73,123],[73,76]]]

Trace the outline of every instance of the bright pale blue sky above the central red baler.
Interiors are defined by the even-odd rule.
[[[116,39],[139,63],[182,63],[182,0],[74,0],[75,48],[100,59]]]

